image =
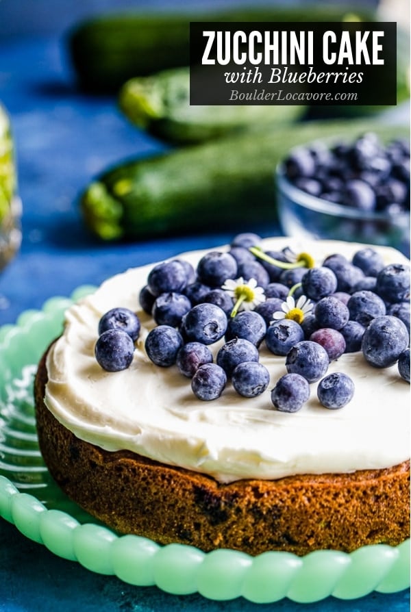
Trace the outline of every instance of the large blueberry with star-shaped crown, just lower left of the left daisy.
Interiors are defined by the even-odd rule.
[[[190,342],[213,344],[225,334],[227,316],[215,304],[197,304],[184,316],[182,329]]]

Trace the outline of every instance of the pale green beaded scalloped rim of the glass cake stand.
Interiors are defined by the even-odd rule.
[[[18,355],[16,362],[14,354],[17,370],[36,364],[59,326],[61,329],[66,307],[94,289],[84,285],[70,298],[51,298],[41,310],[23,312],[16,325],[1,327],[0,357],[8,350],[13,357],[19,333],[29,334],[33,327],[40,325],[44,330],[49,325],[45,344],[36,347],[38,355],[28,351],[23,364]],[[99,524],[81,524],[70,513],[47,509],[36,496],[20,492],[1,475],[0,516],[58,557],[77,561],[92,572],[117,576],[131,585],[155,585],[173,595],[199,593],[221,601],[243,597],[253,603],[288,598],[312,603],[329,596],[352,600],[372,591],[389,594],[410,588],[409,539],[399,546],[375,544],[350,553],[316,550],[304,557],[281,551],[251,557],[236,550],[206,553],[182,544],[160,546],[145,537],[116,535]]]

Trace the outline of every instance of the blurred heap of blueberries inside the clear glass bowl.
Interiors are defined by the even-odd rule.
[[[300,146],[284,161],[286,176],[313,196],[363,212],[410,211],[410,144],[384,146],[375,133],[352,144]]]

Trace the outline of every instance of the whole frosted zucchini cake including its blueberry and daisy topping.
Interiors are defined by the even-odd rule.
[[[177,272],[184,268],[185,281],[176,280],[174,270],[164,284],[162,263],[131,268],[66,311],[64,331],[42,357],[35,381],[40,449],[51,475],[116,532],[161,544],[253,555],[399,544],[410,528],[409,331],[401,320],[409,299],[408,259],[387,247],[291,238],[262,240],[250,257],[241,238],[211,255],[193,251],[170,260]],[[310,266],[302,272],[301,253]],[[366,253],[375,254],[378,269],[364,264]],[[324,268],[331,274],[316,283],[311,271],[321,276]],[[341,270],[355,272],[355,285],[347,286]],[[353,298],[360,292],[373,293],[371,306],[358,307]],[[234,313],[223,308],[227,295]],[[327,309],[327,324],[319,322],[319,304],[330,297],[349,312],[339,329]],[[375,311],[375,301],[382,310]],[[120,343],[110,368],[111,341],[98,345],[110,335],[103,329],[113,320],[107,314],[119,309],[136,315],[137,323],[132,340],[121,330],[131,353],[127,344],[119,357]],[[216,309],[220,318],[201,320]],[[255,321],[245,325],[245,335],[241,326],[230,331],[246,312],[255,313]],[[253,341],[261,320],[266,331]],[[364,332],[357,346],[344,332],[353,321]],[[294,324],[299,329],[289,348]],[[275,327],[284,350],[269,340]],[[162,338],[154,337],[159,329]],[[311,340],[321,329],[331,329],[326,341]],[[345,341],[337,356],[327,344],[336,333]],[[240,342],[247,345],[244,354]],[[200,353],[190,353],[192,344],[203,347]],[[304,353],[302,365],[290,354],[313,344],[327,364],[307,378]],[[317,362],[307,359],[315,370]],[[290,389],[284,390],[284,380]],[[342,380],[348,387],[337,385],[329,395],[330,381]]]

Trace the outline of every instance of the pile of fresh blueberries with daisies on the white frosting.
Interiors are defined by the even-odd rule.
[[[321,266],[292,267],[289,249],[264,252],[260,244],[256,234],[243,233],[228,251],[201,257],[196,270],[182,259],[151,269],[140,306],[156,323],[145,340],[153,364],[176,365],[201,400],[221,396],[229,380],[251,398],[270,383],[259,361],[259,348],[266,346],[285,357],[287,374],[271,390],[273,406],[285,412],[299,410],[316,381],[323,406],[336,409],[351,400],[354,385],[347,374],[327,374],[330,361],[343,353],[362,351],[375,368],[397,364],[410,381],[409,266],[385,266],[377,251],[364,247],[352,261],[336,253]],[[242,287],[249,281],[254,287],[255,279],[264,300],[253,304],[251,291],[249,308],[233,316],[235,297],[222,287],[239,277]],[[95,345],[101,367],[127,368],[139,333],[134,312],[119,307],[106,313]],[[219,340],[214,361],[210,346]]]

